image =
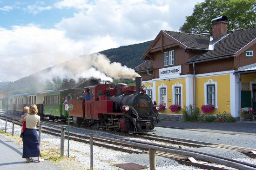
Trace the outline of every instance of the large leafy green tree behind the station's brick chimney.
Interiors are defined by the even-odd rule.
[[[205,0],[194,7],[180,27],[184,33],[211,33],[211,20],[226,15],[228,32],[256,25],[256,0]]]

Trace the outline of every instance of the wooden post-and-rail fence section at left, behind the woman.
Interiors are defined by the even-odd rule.
[[[9,116],[1,116],[0,115],[0,119],[3,119],[5,120],[5,133],[7,133],[7,122],[12,122],[13,123],[13,127],[12,127],[12,136],[14,135],[14,124],[15,124],[15,121],[17,122],[20,122],[20,118],[16,118],[16,117],[9,117]],[[17,124],[17,123],[16,123]],[[20,125],[20,124],[18,124]],[[56,129],[61,129],[61,157],[64,157],[64,150],[65,150],[65,145],[64,145],[64,139],[65,139],[65,130],[66,128],[65,127],[61,127],[61,126],[57,126],[57,125],[54,125],[54,124],[48,124],[48,123],[45,123],[45,122],[40,122],[39,126],[39,132],[38,132],[38,141],[39,141],[39,145],[41,144],[41,133],[42,133],[42,125],[45,125],[45,126],[50,126],[50,127],[54,127]]]

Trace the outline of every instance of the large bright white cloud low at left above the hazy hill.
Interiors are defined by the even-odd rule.
[[[0,78],[14,81],[83,54],[85,44],[38,26],[0,29]],[[10,74],[13,72],[13,74]]]

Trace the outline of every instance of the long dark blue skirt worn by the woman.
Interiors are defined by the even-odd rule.
[[[22,157],[40,157],[40,147],[36,129],[27,129],[24,131],[23,137],[23,154]]]

